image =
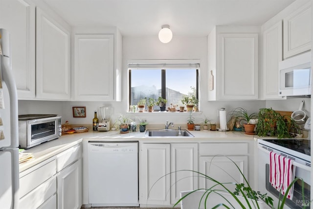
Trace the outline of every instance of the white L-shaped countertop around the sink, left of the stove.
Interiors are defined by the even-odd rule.
[[[90,131],[86,133],[74,133],[61,136],[59,139],[54,139],[43,144],[32,147],[25,152],[32,153],[34,158],[28,162],[20,164],[20,172],[34,166],[56,154],[67,150],[69,147],[82,142],[82,140],[95,140],[95,141],[147,141],[147,142],[205,142],[205,141],[220,141],[234,142],[235,140],[253,140],[255,136],[246,135],[244,132],[237,131],[189,131],[195,137],[182,137],[182,138],[145,138],[145,132],[130,132],[120,134],[118,131],[98,132]]]

